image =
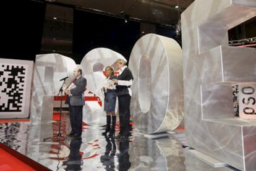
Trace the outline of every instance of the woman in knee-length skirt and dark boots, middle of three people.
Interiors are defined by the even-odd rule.
[[[106,80],[104,82],[103,91],[105,94],[104,99],[104,111],[106,111],[106,130],[102,135],[106,135],[109,132],[109,136],[113,136],[116,127],[116,90],[114,87],[113,79],[116,78],[114,75],[114,69],[111,66],[105,68]],[[110,127],[112,117],[112,125]]]

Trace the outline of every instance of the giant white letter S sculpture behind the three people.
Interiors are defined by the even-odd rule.
[[[104,104],[104,96],[101,92],[105,75],[103,70],[106,66],[113,66],[117,59],[125,59],[121,54],[107,48],[96,48],[83,57],[81,67],[87,78],[87,89],[101,98]],[[115,69],[116,70],[116,69]],[[103,106],[98,102],[86,102],[83,110],[83,120],[89,125],[103,126],[106,124],[106,114]]]

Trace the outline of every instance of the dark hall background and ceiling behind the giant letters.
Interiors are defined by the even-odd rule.
[[[0,57],[35,60],[36,54],[56,52],[79,64],[91,49],[105,47],[128,59],[135,42],[148,33],[181,44],[176,24],[193,1],[23,0],[15,5],[2,1]],[[254,38],[255,22],[254,18],[229,30],[229,39]]]

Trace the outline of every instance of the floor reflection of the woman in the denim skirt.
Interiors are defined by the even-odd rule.
[[[114,171],[114,156],[116,156],[116,142],[114,138],[109,138],[105,135],[106,139],[106,151],[105,154],[100,156],[101,163],[105,166],[108,171]]]

